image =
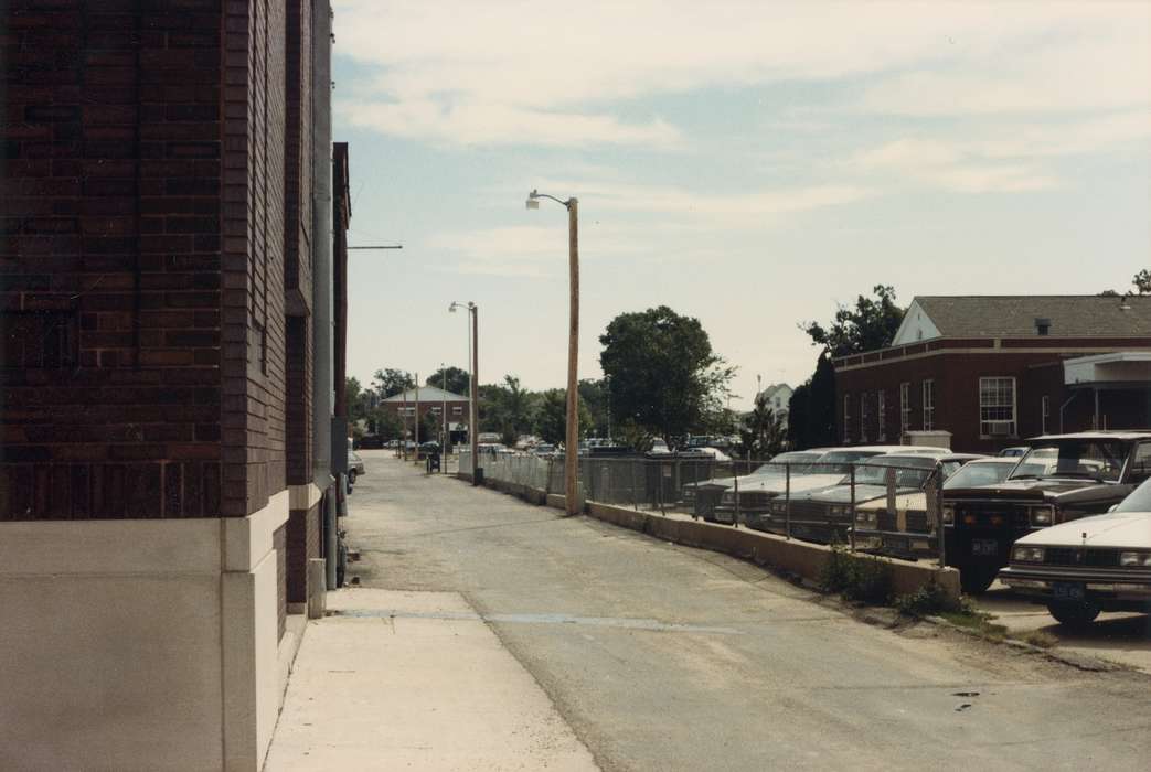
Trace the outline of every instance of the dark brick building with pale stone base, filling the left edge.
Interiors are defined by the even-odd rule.
[[[335,552],[328,3],[2,21],[0,767],[258,769]]]

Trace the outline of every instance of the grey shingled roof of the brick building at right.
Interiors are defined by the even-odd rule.
[[[1047,335],[1151,337],[1151,296],[1120,298],[1095,295],[925,296],[915,301],[946,337],[1036,335],[1035,320],[1051,320]]]

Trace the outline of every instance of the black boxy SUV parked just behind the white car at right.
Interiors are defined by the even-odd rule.
[[[1149,459],[1151,431],[1045,435],[1028,442],[1003,483],[947,490],[947,564],[959,568],[963,590],[985,591],[1016,540],[1121,502],[1148,477]]]

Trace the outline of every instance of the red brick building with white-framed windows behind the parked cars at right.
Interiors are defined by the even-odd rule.
[[[950,431],[993,452],[1024,437],[1151,426],[1151,297],[917,297],[891,346],[839,357],[846,444]]]

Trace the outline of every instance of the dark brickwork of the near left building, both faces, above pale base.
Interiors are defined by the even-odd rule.
[[[0,30],[0,519],[259,510],[285,487],[284,3],[13,0]]]

